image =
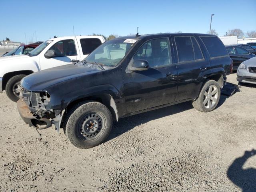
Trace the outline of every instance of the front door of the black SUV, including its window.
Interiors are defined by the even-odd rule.
[[[123,73],[127,113],[173,102],[177,92],[177,69],[172,64],[169,38],[148,40],[128,65],[138,59],[147,60],[149,68]]]

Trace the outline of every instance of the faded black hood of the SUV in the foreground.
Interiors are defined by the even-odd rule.
[[[68,64],[30,74],[23,78],[22,86],[26,90],[42,91],[54,84],[98,71],[101,70],[79,64]]]

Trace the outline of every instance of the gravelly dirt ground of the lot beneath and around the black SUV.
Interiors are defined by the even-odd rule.
[[[0,119],[0,191],[256,191],[256,86],[209,113],[186,102],[120,119],[88,150],[63,130],[40,138],[5,93]]]

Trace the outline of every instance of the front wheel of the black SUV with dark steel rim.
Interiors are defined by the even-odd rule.
[[[80,102],[69,110],[64,120],[66,137],[80,149],[92,148],[104,142],[111,128],[111,112],[100,102]]]

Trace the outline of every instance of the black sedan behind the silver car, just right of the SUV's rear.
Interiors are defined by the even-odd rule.
[[[242,62],[256,56],[240,46],[228,45],[226,49],[230,58],[233,60],[233,71],[237,70]]]

